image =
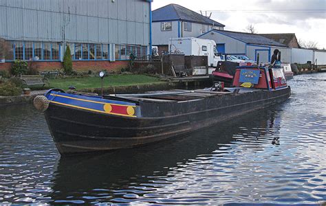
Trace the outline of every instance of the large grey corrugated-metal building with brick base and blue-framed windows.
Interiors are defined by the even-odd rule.
[[[0,38],[12,45],[14,60],[33,61],[40,70],[59,69],[66,45],[74,69],[117,69],[129,54],[151,47],[153,0],[1,0]]]

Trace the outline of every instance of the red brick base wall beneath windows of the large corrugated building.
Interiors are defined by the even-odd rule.
[[[122,68],[128,67],[128,61],[73,61],[72,67],[76,71],[100,71],[106,69],[107,71],[120,71]],[[28,62],[30,65],[31,62]],[[33,67],[38,71],[51,71],[55,69],[62,69],[62,62],[32,62]],[[0,71],[10,71],[12,62],[0,63]]]

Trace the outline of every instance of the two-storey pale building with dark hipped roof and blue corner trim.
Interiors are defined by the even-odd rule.
[[[168,52],[169,38],[197,37],[210,30],[224,30],[225,25],[181,5],[169,4],[153,10],[153,45],[159,54]]]

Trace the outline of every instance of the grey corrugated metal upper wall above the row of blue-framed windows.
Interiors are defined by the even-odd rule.
[[[142,0],[0,0],[0,21],[9,40],[149,45]]]

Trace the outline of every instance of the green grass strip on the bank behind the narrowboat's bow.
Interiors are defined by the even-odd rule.
[[[74,86],[76,89],[94,89],[101,87],[99,77],[84,78],[57,78],[50,79],[50,88],[68,89]],[[103,87],[130,86],[138,84],[153,84],[162,82],[158,78],[139,74],[110,75],[104,78]],[[45,86],[47,88],[47,86]]]

